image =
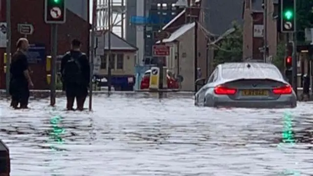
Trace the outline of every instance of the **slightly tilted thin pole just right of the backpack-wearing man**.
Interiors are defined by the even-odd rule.
[[[95,38],[95,27],[97,18],[97,0],[92,1],[92,23],[91,23],[91,44],[90,44],[90,82],[89,82],[89,111],[92,110],[92,76],[93,76],[93,60],[95,54],[94,38]]]

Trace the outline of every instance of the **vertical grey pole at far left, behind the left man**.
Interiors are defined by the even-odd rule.
[[[10,65],[11,65],[11,0],[6,0],[6,95],[9,97],[10,89]]]

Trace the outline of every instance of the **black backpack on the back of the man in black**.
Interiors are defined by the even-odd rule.
[[[71,55],[69,55],[69,60],[67,60],[67,63],[65,63],[65,67],[63,70],[63,81],[65,84],[71,84],[71,85],[82,85],[83,84],[83,78],[82,78],[82,69],[81,65],[78,61],[78,58],[81,57],[81,55],[78,58],[74,58]]]

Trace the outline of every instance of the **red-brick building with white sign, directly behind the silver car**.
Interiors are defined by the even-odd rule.
[[[278,21],[278,0],[267,0],[267,39],[268,56],[275,56],[277,43],[280,40]],[[244,0],[243,3],[243,58],[263,60],[263,53],[259,49],[263,47],[263,0]]]

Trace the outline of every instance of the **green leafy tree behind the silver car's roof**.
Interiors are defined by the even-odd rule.
[[[243,60],[243,29],[233,22],[235,31],[224,37],[224,39],[215,45],[216,52],[214,57],[214,66],[224,62],[242,62]]]

